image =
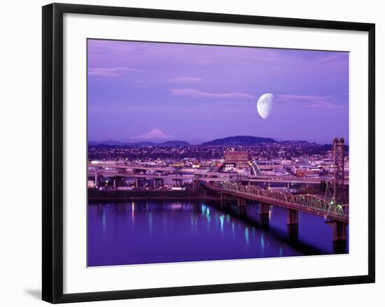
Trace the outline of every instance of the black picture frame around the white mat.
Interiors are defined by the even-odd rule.
[[[194,20],[227,22],[234,24],[260,24],[269,26],[306,27],[365,31],[368,33],[368,110],[369,110],[369,173],[368,173],[368,274],[333,278],[301,280],[276,280],[257,283],[233,283],[157,289],[121,290],[90,293],[63,294],[63,15],[93,14],[127,17],[160,18],[169,20]],[[86,6],[52,3],[43,6],[43,283],[42,297],[50,303],[168,297],[176,295],[242,292],[326,285],[374,283],[374,99],[375,99],[375,25],[360,22],[306,20],[282,17],[230,15],[219,13],[123,8],[111,6]]]

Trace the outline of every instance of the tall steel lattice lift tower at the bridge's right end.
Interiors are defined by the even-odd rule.
[[[332,179],[328,181],[325,197],[335,204],[346,204],[344,191],[344,138],[335,138],[332,143]]]

